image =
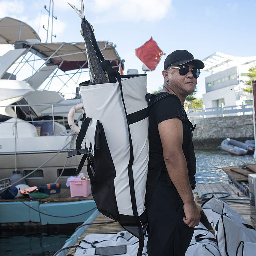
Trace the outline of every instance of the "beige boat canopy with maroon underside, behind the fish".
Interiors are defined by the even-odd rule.
[[[31,43],[28,42],[30,46]],[[111,62],[112,67],[118,70],[119,66],[123,67],[123,60],[120,59],[112,42],[98,41],[99,48],[105,59]],[[51,63],[58,65],[62,71],[88,68],[86,48],[84,42],[79,43],[36,43],[32,46],[32,51],[39,55],[44,55],[45,59],[52,60]]]

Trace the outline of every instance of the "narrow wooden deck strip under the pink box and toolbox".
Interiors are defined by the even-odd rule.
[[[19,198],[21,201],[39,201],[39,202],[73,202],[73,201],[82,201],[82,200],[91,200],[93,199],[92,194],[90,194],[88,197],[71,197],[70,195],[70,189],[61,188],[60,193],[51,194],[48,198],[42,198],[42,199],[32,199],[28,196],[23,196]],[[3,199],[0,198],[0,202],[17,202],[19,201],[17,198],[14,199]]]

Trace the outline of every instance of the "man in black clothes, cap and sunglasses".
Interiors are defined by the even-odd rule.
[[[192,194],[196,172],[192,143],[195,126],[183,108],[186,96],[195,91],[199,68],[204,68],[204,63],[186,50],[168,55],[162,71],[163,90],[155,95],[150,108],[148,255],[184,255],[200,221]]]

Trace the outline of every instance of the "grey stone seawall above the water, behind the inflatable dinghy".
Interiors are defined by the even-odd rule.
[[[195,149],[215,149],[226,138],[241,142],[254,139],[252,115],[189,118],[189,120],[197,124],[193,132]]]

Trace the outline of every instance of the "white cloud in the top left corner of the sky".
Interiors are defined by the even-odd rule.
[[[24,10],[23,1],[18,0],[4,0],[0,2],[0,18],[9,15],[22,14]]]

